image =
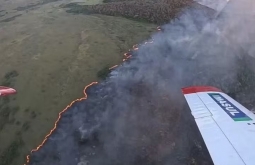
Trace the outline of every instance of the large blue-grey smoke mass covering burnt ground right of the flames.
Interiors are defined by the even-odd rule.
[[[231,39],[242,33],[225,33],[235,29],[228,20],[222,14],[202,30],[209,18],[189,8],[163,26],[62,115],[29,164],[211,164],[180,88],[213,85],[254,105],[253,59]]]

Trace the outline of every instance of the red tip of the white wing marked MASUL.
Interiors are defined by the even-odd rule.
[[[222,92],[222,91],[213,86],[189,86],[182,88],[183,94],[191,94],[197,92]]]

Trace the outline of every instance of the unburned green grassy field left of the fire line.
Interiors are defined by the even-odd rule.
[[[63,3],[0,4],[0,85],[18,91],[0,98],[0,165],[22,164],[58,113],[100,81],[100,70],[157,30],[122,17],[66,13]]]

